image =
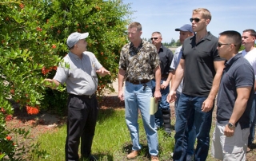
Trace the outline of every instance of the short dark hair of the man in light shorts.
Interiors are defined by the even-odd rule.
[[[238,52],[241,45],[242,45],[242,37],[241,34],[238,33],[238,31],[234,31],[234,30],[227,30],[224,31],[222,33],[219,33],[220,36],[226,36],[228,42],[226,43],[230,43],[230,44],[234,44],[236,51]]]

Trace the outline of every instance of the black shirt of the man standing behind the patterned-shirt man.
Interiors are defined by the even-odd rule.
[[[171,69],[170,64],[171,61],[174,58],[174,53],[170,51],[170,49],[166,48],[166,46],[161,45],[159,51],[158,51],[159,59],[161,61],[160,67],[161,67],[161,76],[162,77],[168,77]]]

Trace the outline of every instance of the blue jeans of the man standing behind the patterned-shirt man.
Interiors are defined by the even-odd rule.
[[[162,84],[163,81],[161,81]],[[155,90],[155,80],[152,80],[153,83],[153,89],[152,93],[154,94]],[[170,104],[167,102],[167,96],[170,92],[170,85],[168,85],[165,89],[160,90],[162,98],[161,101],[158,102],[158,111],[155,112],[154,117],[155,117],[155,124],[157,125],[158,128],[162,127],[163,124],[163,119],[162,119],[162,110],[169,110],[170,112]]]

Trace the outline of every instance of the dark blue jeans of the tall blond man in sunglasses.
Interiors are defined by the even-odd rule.
[[[176,118],[174,160],[186,160],[187,140],[193,126],[196,129],[198,144],[194,152],[194,160],[206,160],[210,144],[210,127],[212,108],[210,112],[202,112],[202,103],[206,96],[189,96],[181,94],[178,101]]]

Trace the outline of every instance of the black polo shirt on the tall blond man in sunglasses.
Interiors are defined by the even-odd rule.
[[[218,38],[210,32],[196,44],[196,35],[188,37],[182,45],[185,59],[182,93],[190,96],[208,96],[213,84],[214,61],[224,61],[218,56]]]

